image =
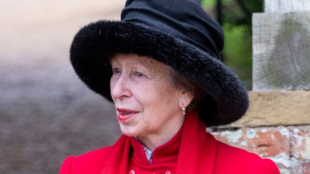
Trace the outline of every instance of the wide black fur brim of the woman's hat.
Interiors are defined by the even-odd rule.
[[[206,126],[232,123],[248,109],[247,90],[237,75],[217,58],[169,33],[130,22],[101,20],[78,31],[71,45],[70,60],[79,78],[110,102],[109,60],[116,53],[153,58],[200,86],[213,101],[204,99],[205,107],[199,108],[198,115]]]

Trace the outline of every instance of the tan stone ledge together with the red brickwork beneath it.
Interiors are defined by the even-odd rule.
[[[281,174],[310,174],[310,112],[304,112],[310,109],[309,94],[310,91],[250,91],[251,104],[244,118],[230,127],[207,131],[221,142],[275,161]],[[292,102],[298,99],[306,99],[302,105],[307,107]],[[291,103],[280,106],[285,101]],[[303,113],[303,118],[291,116],[295,112]]]

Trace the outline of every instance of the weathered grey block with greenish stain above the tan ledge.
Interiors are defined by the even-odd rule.
[[[253,90],[310,90],[310,1],[266,0],[252,16]]]

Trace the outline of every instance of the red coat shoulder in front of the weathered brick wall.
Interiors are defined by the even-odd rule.
[[[217,141],[216,173],[235,174],[280,174],[277,165],[254,153]]]

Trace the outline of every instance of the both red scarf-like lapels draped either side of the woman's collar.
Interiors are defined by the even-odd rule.
[[[187,113],[181,135],[176,173],[212,174],[216,159],[216,144],[215,138],[206,132],[205,125],[198,118],[197,113]],[[103,161],[105,165],[101,173],[127,174],[131,148],[131,137],[122,135],[112,146],[111,156]]]

